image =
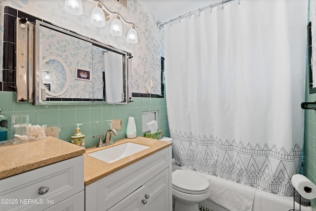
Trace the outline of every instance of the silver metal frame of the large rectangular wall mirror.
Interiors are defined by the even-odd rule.
[[[123,92],[124,92],[124,96],[121,102],[116,102],[116,103],[108,103],[106,101],[100,101],[100,100],[92,100],[92,101],[79,101],[79,99],[74,98],[74,101],[69,101],[69,100],[65,100],[63,101],[62,98],[61,100],[56,100],[56,101],[45,101],[42,100],[42,98],[45,98],[43,95],[45,93],[48,92],[48,90],[46,90],[45,87],[43,87],[43,83],[42,83],[42,79],[41,79],[41,68],[42,68],[42,61],[40,58],[40,26],[55,30],[57,32],[78,38],[80,40],[86,41],[86,42],[90,42],[92,43],[92,45],[96,45],[102,48],[105,48],[107,50],[110,51],[114,51],[118,54],[121,54],[123,56]],[[130,72],[130,68],[131,68],[131,58],[132,55],[131,53],[118,49],[116,47],[113,47],[111,45],[93,40],[91,38],[85,37],[83,35],[79,35],[75,32],[72,32],[68,29],[65,29],[63,27],[57,26],[57,25],[53,25],[47,22],[43,22],[40,20],[36,20],[36,27],[35,27],[35,52],[34,52],[34,58],[35,58],[35,79],[34,79],[34,91],[35,91],[35,100],[34,100],[34,104],[35,105],[74,105],[74,104],[80,104],[80,105],[91,105],[91,104],[126,104],[128,102],[128,73]],[[51,57],[50,57],[51,58]],[[45,58],[46,59],[46,58]],[[44,59],[44,60],[45,60]],[[58,60],[58,59],[57,59]],[[63,62],[61,62],[65,68],[65,65]],[[66,66],[67,68],[67,66]],[[65,68],[65,70],[66,70]],[[67,71],[66,71],[67,73]],[[69,85],[69,84],[68,84]],[[67,85],[67,87],[68,87]],[[65,86],[66,87],[66,86]],[[45,88],[45,92],[43,93],[43,88]],[[51,95],[53,96],[53,95]]]

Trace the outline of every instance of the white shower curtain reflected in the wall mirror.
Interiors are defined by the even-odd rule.
[[[107,51],[103,54],[105,72],[105,92],[107,103],[122,101],[123,57],[121,54]]]

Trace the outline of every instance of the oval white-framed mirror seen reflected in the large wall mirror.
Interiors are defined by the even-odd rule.
[[[69,84],[66,65],[56,58],[46,58],[42,62],[41,79],[46,87],[46,93],[51,96],[63,94]]]

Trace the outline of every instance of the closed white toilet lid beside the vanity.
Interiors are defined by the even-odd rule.
[[[196,172],[177,169],[172,172],[172,187],[180,192],[202,194],[208,191],[208,180]]]

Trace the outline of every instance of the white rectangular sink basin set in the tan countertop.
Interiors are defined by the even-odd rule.
[[[127,142],[114,147],[90,153],[88,154],[88,156],[99,159],[101,161],[105,161],[107,163],[113,163],[147,148],[149,148],[149,146]]]

